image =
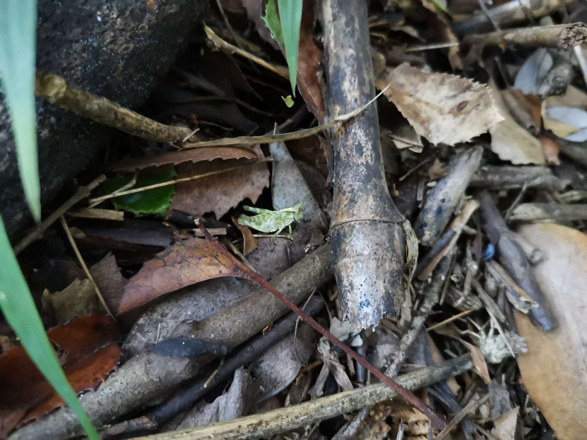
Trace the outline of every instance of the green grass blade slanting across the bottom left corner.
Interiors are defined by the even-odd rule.
[[[4,0],[2,0],[4,1]],[[63,398],[73,414],[77,416],[91,440],[99,440],[100,436],[80,405],[79,400],[65,373],[59,365],[55,351],[49,343],[49,339],[43,329],[41,317],[33,302],[31,292],[26,285],[25,277],[6,235],[4,222],[0,218],[0,309],[6,317],[6,321],[21,339],[22,346],[29,354],[32,361],[46,377],[55,391]]]

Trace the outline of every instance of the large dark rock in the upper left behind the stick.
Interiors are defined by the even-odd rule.
[[[37,68],[136,110],[200,25],[208,0],[39,0]],[[115,130],[37,99],[41,202],[83,170]],[[10,236],[31,216],[0,99],[0,214]]]

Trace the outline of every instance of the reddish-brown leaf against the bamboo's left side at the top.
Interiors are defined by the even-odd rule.
[[[322,95],[322,53],[314,43],[314,1],[304,0],[299,29],[298,89],[306,106],[319,123],[326,123],[326,107]]]

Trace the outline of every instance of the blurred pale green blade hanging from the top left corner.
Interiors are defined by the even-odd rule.
[[[0,77],[12,119],[16,158],[26,201],[41,221],[36,145],[36,0],[0,0]]]

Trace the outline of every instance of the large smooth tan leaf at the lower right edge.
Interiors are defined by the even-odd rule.
[[[528,345],[528,353],[518,356],[522,381],[556,438],[585,438],[587,235],[548,223],[522,226],[519,233],[544,253],[532,269],[556,323],[544,333],[516,313]]]

